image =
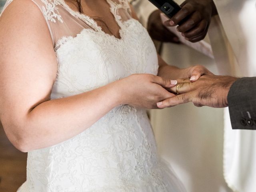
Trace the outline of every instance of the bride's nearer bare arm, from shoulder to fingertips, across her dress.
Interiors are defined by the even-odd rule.
[[[0,17],[0,26],[0,120],[23,152],[72,138],[119,104],[157,108],[157,100],[172,96],[162,88],[170,87],[170,81],[139,74],[50,100],[57,60],[38,7],[31,0],[15,0]]]

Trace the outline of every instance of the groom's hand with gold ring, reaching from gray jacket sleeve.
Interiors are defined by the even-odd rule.
[[[222,108],[228,106],[228,92],[231,85],[238,78],[231,76],[204,75],[196,82],[190,82],[189,79],[177,80],[176,87],[171,88],[172,92],[178,90],[179,94],[158,102],[158,108],[166,108],[193,102],[195,106],[210,106]],[[177,88],[178,87],[178,88]]]

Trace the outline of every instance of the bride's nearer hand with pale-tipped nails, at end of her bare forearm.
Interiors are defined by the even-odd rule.
[[[177,82],[152,74],[133,74],[116,83],[117,91],[120,92],[119,103],[156,109],[157,102],[175,96],[165,88],[172,88]]]

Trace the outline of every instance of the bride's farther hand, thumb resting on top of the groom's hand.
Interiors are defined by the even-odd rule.
[[[188,68],[181,69],[181,78],[190,78],[191,82],[195,82],[202,75],[213,75],[208,69],[202,65],[196,65]]]

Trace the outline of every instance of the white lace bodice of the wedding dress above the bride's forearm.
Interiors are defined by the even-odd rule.
[[[130,19],[124,22],[120,36],[84,29],[75,38],[60,38],[52,98],[89,91],[135,73],[156,75],[158,59],[146,29]]]

